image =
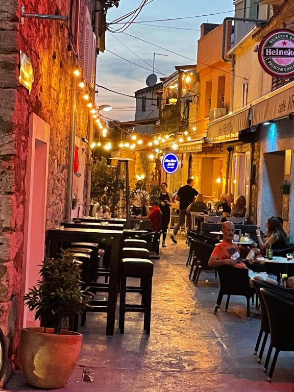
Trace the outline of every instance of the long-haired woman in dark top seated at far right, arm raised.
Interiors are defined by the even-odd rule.
[[[253,260],[256,256],[262,256],[266,253],[269,244],[273,249],[285,249],[289,247],[289,239],[282,228],[281,222],[277,217],[271,217],[266,220],[267,236],[264,237],[260,228],[256,230],[259,248],[253,248],[249,251],[247,259]]]

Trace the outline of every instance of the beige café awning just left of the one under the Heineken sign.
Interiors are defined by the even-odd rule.
[[[250,106],[246,106],[232,114],[227,114],[218,120],[209,122],[207,126],[207,141],[220,143],[238,140],[240,131],[249,128],[249,112]]]

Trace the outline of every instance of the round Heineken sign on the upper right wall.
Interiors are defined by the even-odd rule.
[[[294,31],[278,29],[266,34],[258,47],[258,59],[269,75],[294,76]]]

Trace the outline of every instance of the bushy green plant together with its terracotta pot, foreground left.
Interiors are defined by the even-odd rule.
[[[90,296],[81,288],[81,271],[75,258],[63,252],[46,258],[40,268],[42,280],[30,289],[24,302],[36,311],[35,320],[50,321],[53,328],[24,328],[20,339],[20,363],[29,384],[62,388],[76,366],[83,336],[63,330],[68,317],[81,313]]]

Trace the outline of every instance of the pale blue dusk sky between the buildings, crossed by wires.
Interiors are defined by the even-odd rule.
[[[108,11],[107,22],[115,20],[137,8],[141,0],[120,0],[119,3],[118,8],[114,7]],[[153,44],[139,41],[125,33],[114,34],[107,31],[107,50],[97,58],[96,83],[111,90],[134,95],[134,91],[146,86],[146,77],[152,74],[154,52],[168,55],[168,57],[155,56],[155,74],[158,77],[158,81],[160,77],[172,74],[176,65],[195,64],[201,24],[207,21],[209,23],[222,23],[225,17],[233,16],[233,9],[233,0],[185,0],[180,2],[178,0],[153,0],[142,9],[136,22],[146,21],[146,24],[156,26],[146,26],[145,23],[133,23],[125,33],[149,41],[173,53],[158,48]],[[208,15],[212,13],[220,14]],[[207,16],[169,21],[151,21],[204,14]],[[113,24],[112,29],[118,29],[122,26],[122,24]],[[110,53],[110,51],[113,53]],[[176,55],[175,52],[189,59]],[[116,55],[148,69],[133,65]],[[102,88],[99,88],[99,93],[96,96],[97,105],[110,104],[113,107],[111,112],[105,113],[107,117],[119,119],[120,121],[134,120],[135,101],[134,98],[108,92]]]

